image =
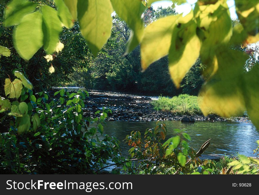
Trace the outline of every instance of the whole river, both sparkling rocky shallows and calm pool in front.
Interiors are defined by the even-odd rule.
[[[133,130],[138,130],[143,135],[147,128],[155,127],[156,120],[163,120],[167,125],[166,139],[175,135],[173,129],[182,129],[191,136],[190,146],[197,151],[205,141],[212,138],[210,146],[205,151],[207,155],[236,156],[239,152],[246,156],[255,156],[253,150],[257,147],[259,131],[247,118],[238,119],[242,122],[233,122],[224,118],[208,120],[205,117],[194,116],[195,123],[182,123],[182,116],[153,110],[150,101],[157,99],[157,96],[96,90],[90,90],[89,95],[85,101],[84,114],[94,117],[94,112],[103,106],[112,109],[113,113],[107,118],[104,133],[121,141],[124,156],[128,155],[130,148],[123,142],[126,135]]]

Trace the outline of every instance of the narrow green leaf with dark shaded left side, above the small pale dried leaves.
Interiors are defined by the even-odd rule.
[[[59,20],[58,13],[50,6],[42,6],[43,19],[43,44],[47,54],[52,54],[59,42],[59,34],[62,31],[62,23]]]

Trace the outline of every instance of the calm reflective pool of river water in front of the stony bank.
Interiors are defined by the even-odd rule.
[[[253,156],[253,149],[257,147],[256,141],[259,140],[259,132],[253,125],[247,123],[181,123],[180,121],[165,121],[165,123],[168,130],[167,138],[174,136],[173,129],[183,129],[191,136],[190,146],[196,150],[202,143],[212,138],[205,154],[236,155],[239,152],[246,156]],[[122,141],[126,135],[132,130],[139,130],[143,135],[147,128],[154,126],[153,121],[107,121],[104,133],[118,138],[121,141],[123,154],[127,156],[129,146]]]

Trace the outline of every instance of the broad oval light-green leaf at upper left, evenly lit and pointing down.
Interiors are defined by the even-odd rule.
[[[36,11],[23,17],[14,29],[14,47],[25,60],[29,60],[43,45],[42,14]]]

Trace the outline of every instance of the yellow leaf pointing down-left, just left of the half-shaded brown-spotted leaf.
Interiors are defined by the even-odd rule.
[[[150,64],[168,54],[172,32],[179,17],[180,15],[160,18],[145,28],[140,44],[141,67],[143,70],[146,70]]]

